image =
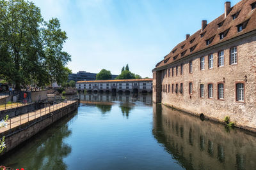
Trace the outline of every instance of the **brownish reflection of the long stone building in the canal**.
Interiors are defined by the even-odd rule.
[[[255,169],[255,134],[153,104],[152,133],[186,169]]]

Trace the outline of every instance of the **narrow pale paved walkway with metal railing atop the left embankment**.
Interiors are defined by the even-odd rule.
[[[72,103],[75,103],[75,102],[76,101],[67,101],[67,103],[63,102],[63,103],[59,103],[59,104],[54,104],[53,106],[42,108],[40,110],[31,111],[29,113],[24,113],[24,114],[19,115],[17,117],[9,118],[8,121],[7,121],[7,123],[8,123],[7,127],[2,127],[0,129],[0,134],[2,132],[13,129],[14,127],[17,127],[21,124],[26,124],[27,122],[29,122],[31,120],[34,120],[35,118],[47,115],[47,114],[51,113],[52,111],[59,110],[60,108],[63,108],[65,106],[68,106],[68,105],[70,105]]]

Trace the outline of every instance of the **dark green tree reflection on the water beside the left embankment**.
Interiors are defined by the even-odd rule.
[[[67,169],[63,159],[71,153],[72,148],[65,143],[65,138],[72,133],[68,126],[74,121],[75,115],[63,118],[52,125],[53,128],[29,139],[19,150],[0,160],[0,164],[25,169]]]

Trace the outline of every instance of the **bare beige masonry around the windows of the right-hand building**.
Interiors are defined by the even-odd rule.
[[[230,65],[230,48],[237,46],[237,64]],[[224,50],[225,66],[218,67],[218,52]],[[208,55],[213,53],[214,67],[208,69]],[[200,57],[205,57],[205,70],[200,70]],[[193,60],[193,73],[189,73],[189,61]],[[223,122],[226,116],[230,116],[230,120],[235,122],[237,127],[243,127],[250,131],[256,132],[256,37],[248,37],[239,41],[229,43],[225,46],[214,48],[214,50],[201,53],[193,58],[183,60],[173,65],[179,66],[179,73],[174,76],[172,71],[170,77],[163,74],[161,85],[170,85],[170,92],[161,92],[161,103],[180,110],[193,113],[195,115],[204,115],[212,120]],[[180,64],[184,64],[184,74],[180,74]],[[157,79],[156,79],[157,80]],[[244,83],[244,103],[236,101],[236,82]],[[154,81],[155,82],[155,81]],[[193,94],[189,94],[189,82],[193,83]],[[224,100],[219,100],[218,83],[223,83]],[[156,82],[155,82],[156,83]],[[172,93],[172,84],[183,83],[183,94],[178,92]],[[213,99],[207,96],[207,84],[213,83]],[[158,83],[159,84],[159,83]],[[204,84],[204,98],[200,97],[200,84]],[[157,83],[156,83],[157,85]],[[159,87],[161,87],[159,85]],[[157,92],[154,92],[154,96]]]

